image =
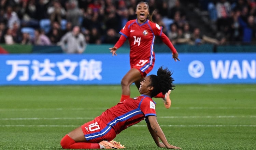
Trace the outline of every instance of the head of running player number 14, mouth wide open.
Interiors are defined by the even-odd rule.
[[[136,14],[139,23],[144,23],[149,15],[148,5],[146,3],[140,3],[137,5]]]

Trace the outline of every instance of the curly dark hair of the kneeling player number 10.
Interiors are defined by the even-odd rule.
[[[159,67],[157,70],[157,75],[150,75],[151,85],[154,89],[152,90],[151,96],[154,97],[158,93],[162,92],[165,94],[169,90],[174,90],[175,85],[173,85],[174,79],[171,77],[172,72],[168,68],[163,69]]]

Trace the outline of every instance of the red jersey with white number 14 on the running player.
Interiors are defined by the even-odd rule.
[[[130,43],[130,64],[153,63],[155,53],[153,51],[155,36],[161,36],[162,27],[147,20],[139,24],[137,19],[130,20],[119,32],[128,38]],[[131,65],[132,66],[132,65]]]

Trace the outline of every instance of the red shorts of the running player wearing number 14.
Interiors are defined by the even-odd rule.
[[[155,59],[152,62],[149,60],[139,60],[135,63],[130,63],[131,68],[135,68],[140,71],[141,76],[145,77],[148,73],[151,72],[155,64]]]

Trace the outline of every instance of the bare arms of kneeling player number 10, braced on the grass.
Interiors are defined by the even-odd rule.
[[[156,116],[148,116],[147,119],[149,122],[149,124],[147,125],[148,131],[150,131],[150,134],[158,147],[166,147],[168,149],[181,149],[168,143],[165,134],[163,133],[161,127],[156,120]],[[159,141],[159,138],[162,142]]]

